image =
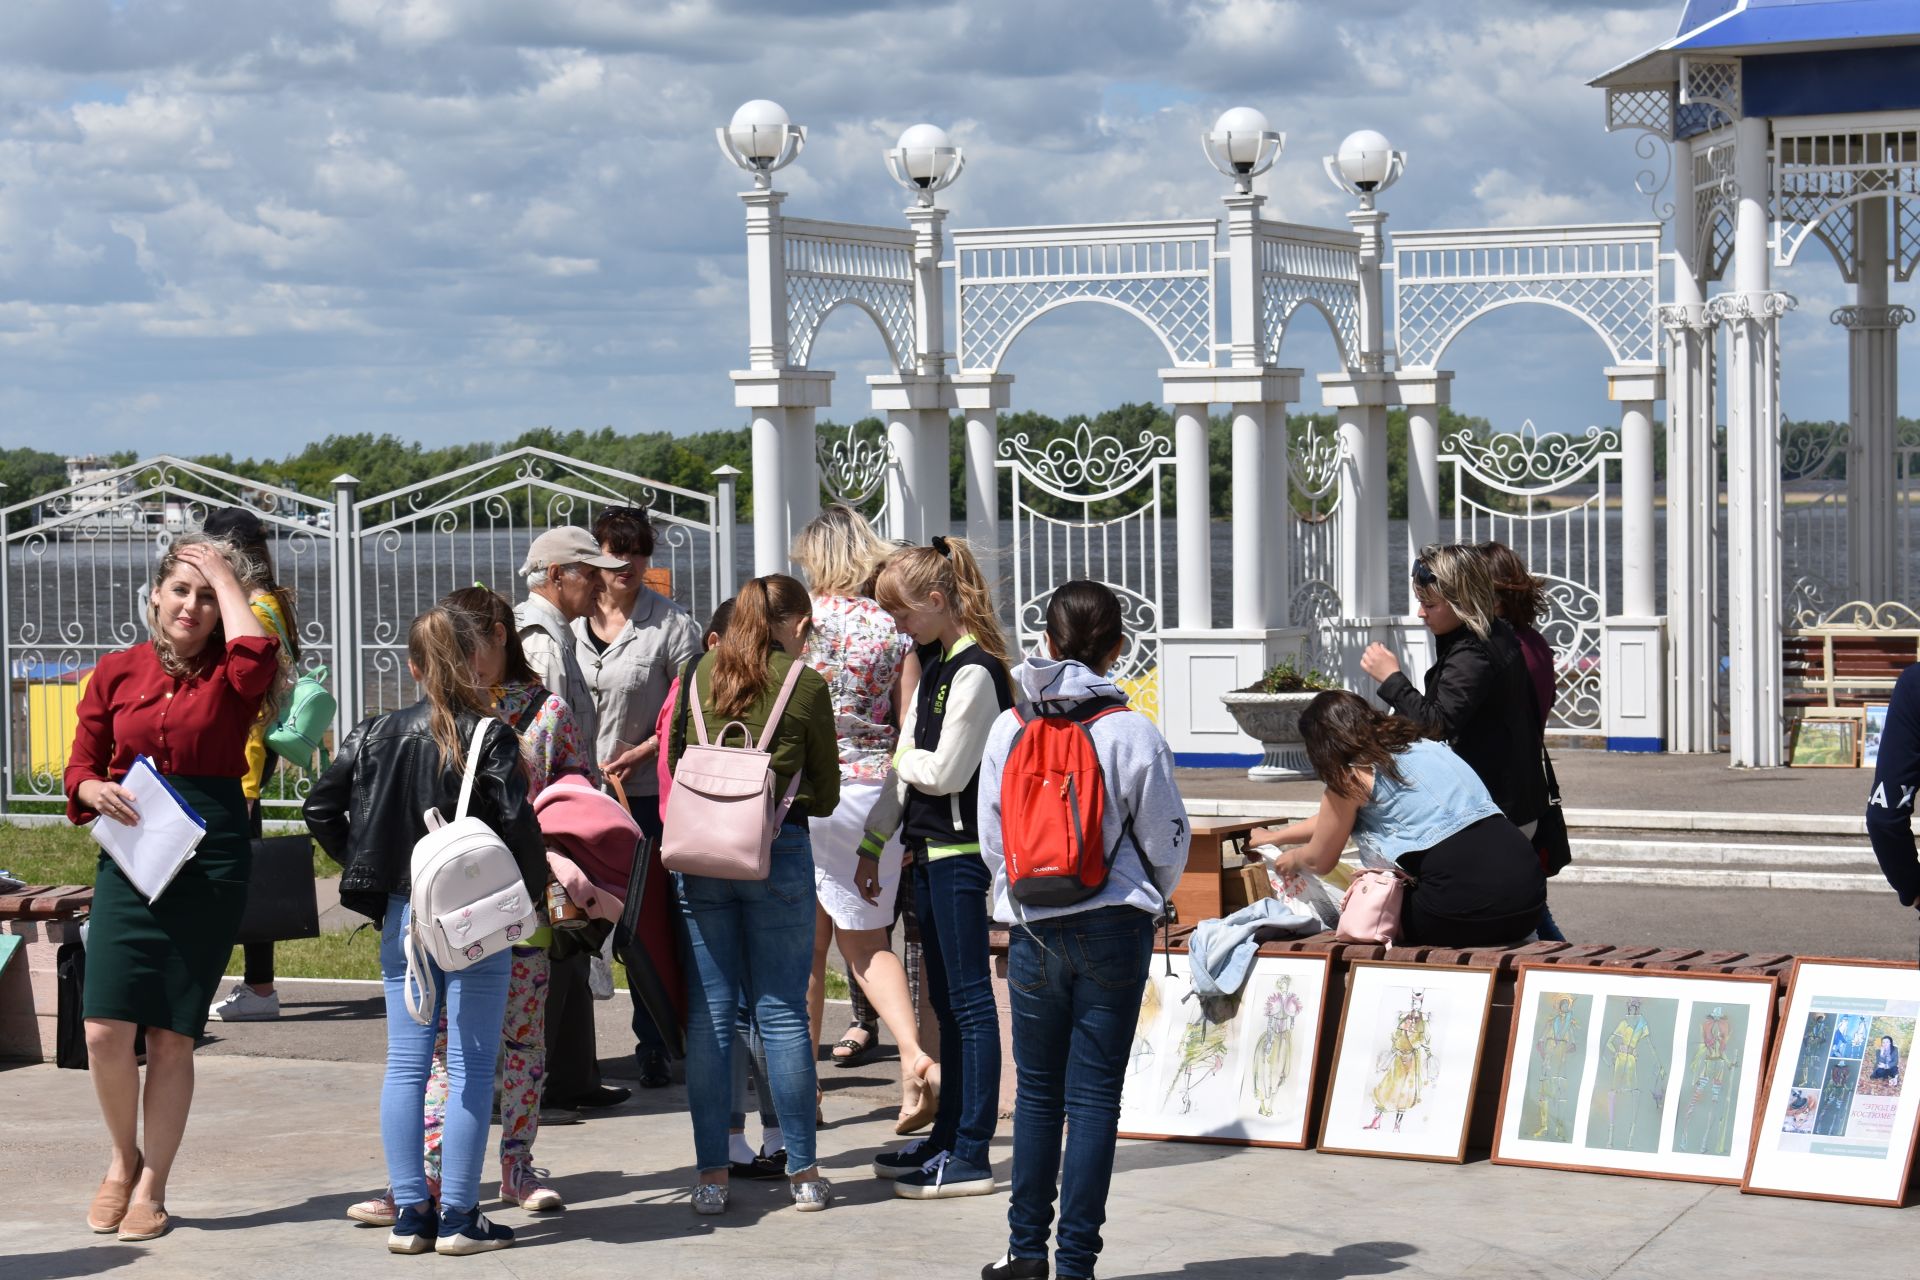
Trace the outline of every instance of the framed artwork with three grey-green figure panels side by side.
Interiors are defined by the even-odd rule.
[[[1521,965],[1496,1165],[1738,1186],[1772,979]]]

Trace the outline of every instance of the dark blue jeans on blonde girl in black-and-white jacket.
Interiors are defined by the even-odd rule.
[[[927,969],[927,1000],[941,1023],[941,1109],[927,1151],[989,1167],[1000,1115],[1000,1013],[987,960],[987,890],[979,854],[914,856],[914,908]],[[1139,1004],[1139,1000],[1135,1000]]]

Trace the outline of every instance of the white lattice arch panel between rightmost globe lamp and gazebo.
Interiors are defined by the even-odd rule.
[[[1544,303],[1582,319],[1615,365],[1657,365],[1659,223],[1394,236],[1402,368],[1438,368],[1488,311]]]

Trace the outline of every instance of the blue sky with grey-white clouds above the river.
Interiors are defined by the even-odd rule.
[[[0,443],[278,455],[530,426],[741,422],[745,184],[714,146],[768,96],[812,130],[787,211],[899,225],[881,148],[952,130],[954,226],[1208,217],[1200,130],[1261,107],[1269,211],[1338,223],[1319,157],[1409,154],[1390,226],[1647,215],[1592,75],[1672,33],[1657,0],[8,0],[0,6]],[[1786,403],[1845,416],[1847,301],[1780,273]],[[1897,297],[1910,297],[1897,286]],[[1332,367],[1296,326],[1283,353]],[[1515,359],[1519,355],[1519,359]],[[833,317],[814,367],[866,411],[881,344]],[[1075,307],[1014,345],[1016,403],[1154,399],[1162,349]],[[1509,309],[1450,353],[1500,426],[1609,418],[1605,349]],[[1908,380],[1920,386],[1920,380]],[[1908,399],[1920,401],[1920,391]],[[1903,405],[1912,411],[1912,405]]]

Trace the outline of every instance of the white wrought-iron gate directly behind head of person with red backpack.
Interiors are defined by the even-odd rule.
[[[1104,581],[1119,597],[1127,647],[1110,676],[1139,712],[1160,722],[1160,628],[1164,557],[1160,512],[1173,461],[1165,436],[1142,432],[1127,445],[1094,436],[1000,441],[995,462],[1008,478],[1014,560],[1014,645],[1033,652],[1046,633],[1054,587]]]

